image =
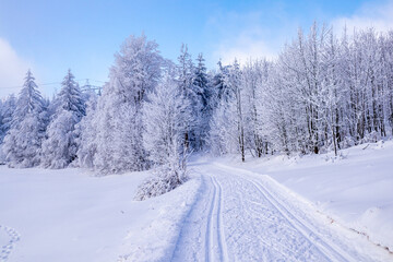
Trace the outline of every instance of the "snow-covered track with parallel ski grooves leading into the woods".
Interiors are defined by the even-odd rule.
[[[312,209],[299,207],[301,201],[267,176],[212,163],[192,169],[202,177],[202,190],[172,261],[376,260],[365,251],[371,243],[354,241],[322,215],[315,219]]]

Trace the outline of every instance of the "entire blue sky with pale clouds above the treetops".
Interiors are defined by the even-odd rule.
[[[274,58],[297,33],[319,23],[393,28],[393,1],[17,1],[0,0],[0,97],[19,93],[32,69],[38,84],[107,81],[114,53],[145,33],[176,60],[182,43],[213,69],[235,57]],[[84,83],[84,81],[81,81]],[[98,84],[99,82],[92,82]],[[59,84],[41,85],[47,96]]]

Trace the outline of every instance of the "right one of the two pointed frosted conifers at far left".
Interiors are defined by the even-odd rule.
[[[79,133],[75,124],[85,115],[85,102],[71,70],[61,82],[56,105],[43,143],[41,162],[47,168],[64,168],[76,158]]]

